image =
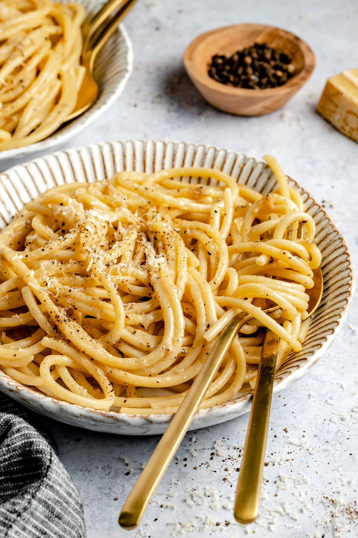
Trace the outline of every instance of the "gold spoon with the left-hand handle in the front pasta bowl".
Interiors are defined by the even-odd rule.
[[[320,270],[316,271],[316,275],[315,287],[317,285],[318,290],[317,293],[315,291],[315,299],[313,300],[315,305],[314,308],[311,309],[310,314],[312,314],[318,307],[323,293],[323,278]],[[311,290],[308,290],[307,293],[313,297]],[[268,308],[264,310],[264,312],[274,312],[274,310],[277,310],[278,308],[278,306]],[[198,407],[204,399],[204,396],[212,383],[218,368],[220,367],[223,358],[227,355],[230,349],[233,339],[236,337],[238,331],[243,327],[243,325],[252,318],[253,316],[246,314],[245,312],[238,314],[230,321],[230,323],[228,323],[227,327],[225,327],[220,337],[217,339],[214,348],[209,353],[198,376],[196,376],[184,400],[181,402],[179,409],[173,416],[163,436],[160,438],[160,441],[151,455],[147,465],[145,465],[140,477],[137,479],[137,482],[129,493],[119,516],[119,524],[122,527],[126,529],[133,529],[140,523],[152,494],[155,492],[167,469],[167,466],[170,464],[182,441],[182,438],[186,434],[193,417],[198,410]],[[268,337],[266,339],[268,339]],[[274,370],[272,371],[271,377],[273,385]],[[267,421],[268,415],[269,409],[267,413]]]

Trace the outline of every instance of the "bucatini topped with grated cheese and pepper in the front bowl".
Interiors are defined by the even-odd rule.
[[[279,367],[301,349],[321,254],[297,190],[266,160],[278,183],[267,196],[192,167],[70,183],[26,204],[0,233],[2,370],[72,404],[172,413],[241,311],[254,319],[201,407],[254,386],[265,327]]]

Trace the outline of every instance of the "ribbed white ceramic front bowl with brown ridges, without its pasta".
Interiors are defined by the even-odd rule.
[[[24,203],[55,185],[103,180],[123,169],[152,172],[172,166],[192,165],[223,170],[262,194],[267,194],[276,186],[276,180],[266,164],[235,151],[204,144],[152,140],[105,143],[58,152],[0,174],[0,227],[4,228]],[[316,222],[316,242],[323,255],[324,294],[317,312],[312,316],[302,350],[293,353],[276,373],[274,392],[282,391],[303,376],[322,357],[342,327],[354,292],[353,265],[344,238],[322,207],[295,181],[290,180],[290,183],[298,189],[305,211]],[[17,383],[1,370],[0,390],[26,407],[61,422],[116,434],[162,433],[171,418],[170,415],[105,413],[68,404]],[[251,398],[251,393],[239,394],[225,404],[199,410],[191,429],[224,422],[245,413],[250,409]]]

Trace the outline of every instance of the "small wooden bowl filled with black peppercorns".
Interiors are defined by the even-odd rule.
[[[286,30],[237,24],[195,38],[184,65],[208,103],[230,114],[260,116],[281,108],[303,86],[315,56]]]

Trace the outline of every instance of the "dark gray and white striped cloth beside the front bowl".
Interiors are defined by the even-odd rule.
[[[0,538],[85,538],[81,499],[50,438],[0,393]]]

